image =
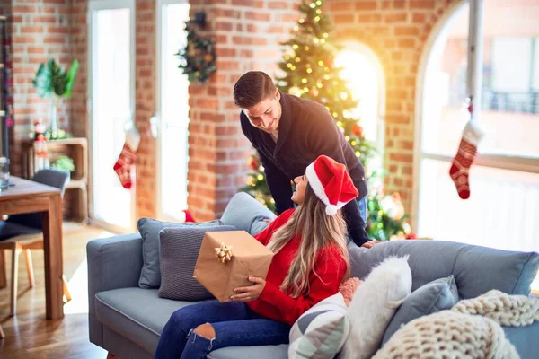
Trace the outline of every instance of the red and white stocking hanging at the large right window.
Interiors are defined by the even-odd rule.
[[[473,120],[468,121],[464,127],[463,137],[458,146],[458,152],[453,159],[449,174],[455,182],[458,197],[468,199],[470,197],[470,183],[468,172],[477,154],[477,145],[480,143],[483,132]]]

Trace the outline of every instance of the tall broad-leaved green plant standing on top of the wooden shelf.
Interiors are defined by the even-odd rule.
[[[71,97],[75,77],[78,71],[78,61],[75,60],[65,71],[54,58],[49,59],[38,68],[36,77],[32,80],[38,95],[50,99],[50,137],[58,139],[66,137],[65,132],[57,127],[57,106],[64,98]]]

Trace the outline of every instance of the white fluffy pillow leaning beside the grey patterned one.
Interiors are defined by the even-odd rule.
[[[348,309],[350,334],[340,358],[375,355],[393,314],[411,293],[408,256],[387,258],[367,276]]]

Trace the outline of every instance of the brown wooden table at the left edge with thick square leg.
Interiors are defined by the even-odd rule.
[[[45,297],[48,320],[64,317],[62,259],[62,197],[58,188],[11,177],[15,186],[0,191],[0,215],[43,212]],[[0,256],[3,257],[3,256]],[[1,264],[4,267],[4,263]]]

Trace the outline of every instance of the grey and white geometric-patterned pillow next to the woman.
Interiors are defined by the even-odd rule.
[[[332,358],[349,335],[349,320],[342,294],[318,302],[290,329],[288,359]]]

